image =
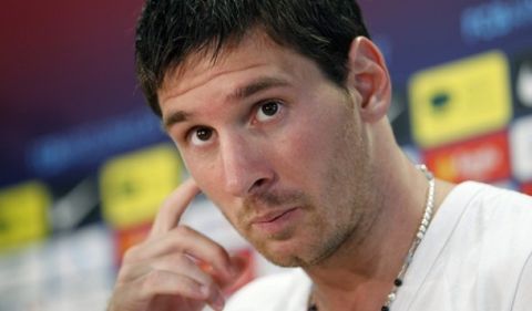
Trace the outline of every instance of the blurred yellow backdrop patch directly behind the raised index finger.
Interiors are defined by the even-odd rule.
[[[103,217],[114,228],[153,220],[181,177],[181,160],[171,145],[111,159],[100,172]]]

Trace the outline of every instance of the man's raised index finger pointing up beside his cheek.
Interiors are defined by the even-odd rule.
[[[158,209],[150,236],[167,232],[177,226],[186,207],[198,193],[200,188],[192,178],[173,190]]]

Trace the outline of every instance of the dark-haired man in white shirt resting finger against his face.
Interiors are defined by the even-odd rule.
[[[355,0],[147,1],[136,40],[141,85],[192,178],[126,253],[110,310],[224,308],[242,263],[180,225],[200,190],[267,259],[301,268],[224,310],[532,305],[532,200],[434,182],[405,157]]]

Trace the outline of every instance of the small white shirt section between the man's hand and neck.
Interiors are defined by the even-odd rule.
[[[224,311],[301,311],[310,287],[301,269],[288,269],[252,281],[228,300]]]

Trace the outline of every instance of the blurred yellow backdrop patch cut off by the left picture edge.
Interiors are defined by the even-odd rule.
[[[0,249],[43,238],[50,204],[48,188],[39,182],[0,190]]]

